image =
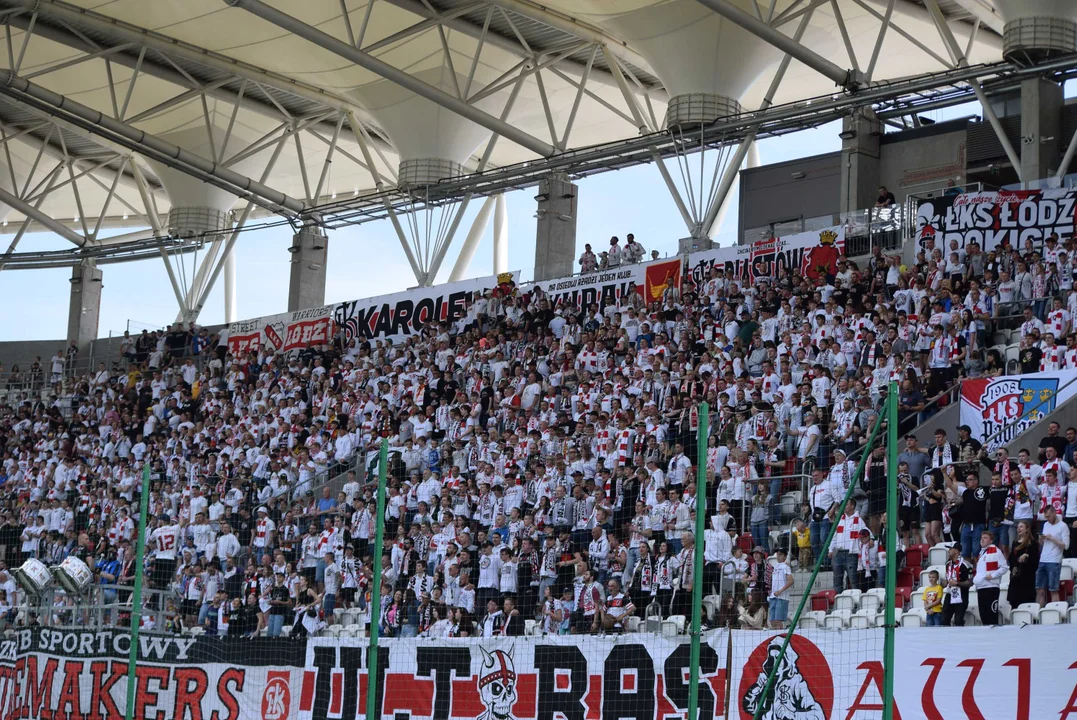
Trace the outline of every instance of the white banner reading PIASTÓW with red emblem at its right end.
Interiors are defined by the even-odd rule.
[[[688,259],[693,282],[699,287],[711,277],[711,268],[715,266],[725,270],[727,280],[742,283],[782,277],[787,271],[794,277],[822,278],[837,272],[838,258],[844,251],[845,228],[836,225],[747,245],[693,253]]]

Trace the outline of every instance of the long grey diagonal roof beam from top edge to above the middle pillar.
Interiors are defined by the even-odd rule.
[[[431,102],[446,108],[447,110],[451,110],[461,117],[465,117],[476,125],[480,125],[488,130],[492,130],[493,132],[512,140],[523,147],[527,147],[533,153],[547,157],[556,152],[554,145],[543,142],[533,136],[523,132],[516,126],[499,119],[489,113],[482,112],[478,108],[467,104],[460,98],[453,97],[440,88],[424,83],[414,75],[409,75],[400,68],[393,67],[383,60],[364,53],[361,50],[352,47],[348,43],[334,38],[327,32],[322,32],[318,28],[307,25],[288,13],[282,13],[261,0],[224,1],[235,8],[241,8],[252,15],[261,17],[267,23],[276,25],[283,30],[288,30],[289,32],[304,38],[319,47],[323,47],[335,55],[339,55],[346,60],[350,60],[359,67],[369,70],[376,75],[396,83],[401,87],[415,93],[419,97],[425,98]]]

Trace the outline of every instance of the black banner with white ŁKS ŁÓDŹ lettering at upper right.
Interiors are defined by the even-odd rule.
[[[991,252],[1008,241],[1022,253],[1031,244],[1044,248],[1054,234],[1074,235],[1077,190],[999,190],[922,198],[917,204],[915,238],[921,250],[938,249],[948,258],[953,244],[964,250],[977,243]]]

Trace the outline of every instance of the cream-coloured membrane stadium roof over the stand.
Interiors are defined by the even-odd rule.
[[[222,207],[238,195],[253,217],[293,222],[403,207],[436,172],[429,158],[456,199],[520,186],[544,157],[667,131],[671,97],[737,112],[829,96],[845,111],[857,89],[1002,67],[1008,1],[0,0],[4,229],[29,218],[97,253],[131,240],[98,240],[104,228],[167,235],[173,204],[201,203],[176,171],[215,185]],[[793,121],[783,131],[811,124]],[[750,131],[766,128],[709,141]],[[576,173],[617,167],[602,163]],[[512,179],[468,189],[477,170]]]

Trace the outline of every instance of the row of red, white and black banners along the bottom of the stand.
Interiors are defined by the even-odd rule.
[[[1069,625],[899,627],[895,718],[1077,719]],[[730,645],[730,639],[732,640]],[[666,720],[688,707],[686,636],[387,638],[143,635],[135,717],[149,720]],[[710,631],[699,720],[879,718],[883,631]],[[129,636],[24,629],[0,640],[0,717],[123,718]],[[731,648],[731,651],[730,651]],[[777,673],[768,688],[772,668]],[[728,708],[728,715],[726,714]]]

